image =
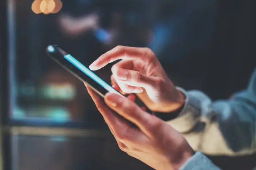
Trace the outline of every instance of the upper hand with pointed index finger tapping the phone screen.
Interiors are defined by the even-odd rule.
[[[156,55],[148,48],[118,46],[100,56],[90,65],[98,70],[121,59],[112,67],[113,81],[125,93],[137,93],[152,111],[172,112],[184,103],[184,95],[177,90],[164,72]]]

